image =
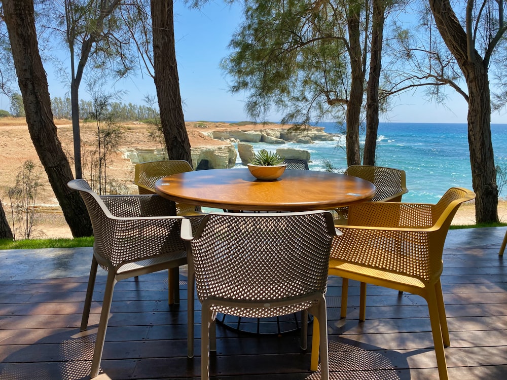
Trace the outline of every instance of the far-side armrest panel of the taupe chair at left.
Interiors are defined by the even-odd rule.
[[[158,195],[107,195],[100,199],[112,215],[120,218],[176,215],[174,202]]]

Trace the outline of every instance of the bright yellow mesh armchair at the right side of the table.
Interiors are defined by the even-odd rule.
[[[366,286],[418,294],[426,299],[440,379],[448,378],[444,346],[449,330],[442,295],[442,252],[452,218],[475,193],[450,188],[437,204],[365,202],[349,208],[349,224],[331,249],[329,274],[344,279],[341,317],[347,313],[348,280],[361,282],[359,319],[366,318]]]

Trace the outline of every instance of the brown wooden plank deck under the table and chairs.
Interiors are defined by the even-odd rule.
[[[498,256],[504,232],[449,232],[442,283],[452,345],[446,349],[451,379],[506,378],[507,266]],[[0,379],[88,378],[105,281],[104,276],[98,278],[91,327],[81,333],[87,275],[77,267],[87,267],[90,254],[88,251],[67,262],[66,256],[57,253],[44,256],[37,251],[0,251]],[[44,258],[37,264],[40,256]],[[30,258],[36,263],[34,267],[28,264],[20,271],[20,265]],[[17,265],[17,272],[12,265]],[[42,265],[65,270],[59,272],[59,278],[43,278],[37,270]],[[48,273],[48,267],[44,268]],[[180,283],[185,289],[185,271],[180,271]],[[330,277],[331,379],[438,379],[428,311],[422,298],[399,296],[396,291],[370,285],[367,320],[358,322],[359,287],[351,283],[348,316],[341,320],[340,285],[339,278]],[[181,292],[179,307],[170,308],[166,290],[165,273],[118,283],[97,379],[199,376],[200,357],[186,357],[186,291]],[[196,336],[199,322],[197,314]],[[309,371],[310,351],[299,349],[297,335],[252,336],[218,325],[218,351],[211,358],[211,378],[320,378],[319,372]],[[198,355],[200,340],[195,344]]]

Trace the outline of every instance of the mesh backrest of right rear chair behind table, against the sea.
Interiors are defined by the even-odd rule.
[[[351,165],[344,174],[372,182],[377,190],[371,199],[373,202],[401,202],[402,196],[408,193],[404,170],[382,166]]]

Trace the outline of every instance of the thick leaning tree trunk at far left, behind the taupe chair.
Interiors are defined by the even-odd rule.
[[[53,122],[48,81],[35,32],[33,2],[4,0],[3,7],[31,140],[73,236],[91,236],[93,231],[85,204],[79,193],[67,186],[73,175]]]

